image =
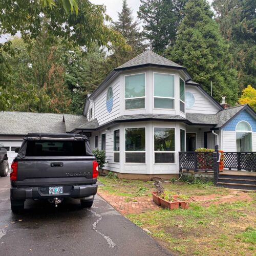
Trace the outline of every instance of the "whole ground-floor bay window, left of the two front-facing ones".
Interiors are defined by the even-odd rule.
[[[145,163],[146,129],[125,128],[125,162],[126,163]]]

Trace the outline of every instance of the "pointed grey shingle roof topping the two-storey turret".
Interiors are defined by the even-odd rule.
[[[136,56],[135,58],[125,62],[123,65],[119,66],[115,70],[136,67],[146,64],[183,68],[175,62],[168,60],[150,50],[147,50],[141,53],[140,55]]]

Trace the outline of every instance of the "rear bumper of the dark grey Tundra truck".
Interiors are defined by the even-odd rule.
[[[76,185],[72,186],[70,191],[66,191],[65,186],[63,186],[63,194],[50,195],[47,194],[47,189],[49,187],[11,187],[11,199],[14,200],[26,200],[26,199],[48,199],[48,198],[83,198],[94,196],[97,193],[98,185]],[[42,191],[44,190],[44,191]]]

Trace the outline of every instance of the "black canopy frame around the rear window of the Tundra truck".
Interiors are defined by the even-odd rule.
[[[54,140],[54,141],[83,141],[86,144],[86,155],[92,156],[88,138],[81,134],[27,134],[24,138],[22,145],[20,146],[17,157],[24,158],[27,150],[27,140]]]

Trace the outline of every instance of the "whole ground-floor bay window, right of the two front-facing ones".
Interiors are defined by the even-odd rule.
[[[155,163],[175,163],[175,129],[154,129]]]

